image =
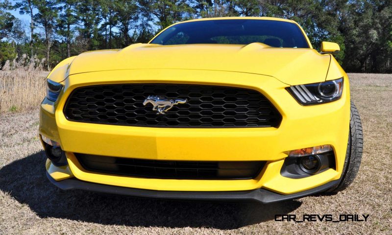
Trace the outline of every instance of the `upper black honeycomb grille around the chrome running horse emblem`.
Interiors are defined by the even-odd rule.
[[[165,115],[143,105],[149,95],[187,99]],[[270,127],[281,115],[257,91],[189,84],[118,84],[75,89],[67,100],[68,120],[129,126]]]

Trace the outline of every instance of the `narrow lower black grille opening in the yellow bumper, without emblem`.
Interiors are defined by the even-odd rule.
[[[161,161],[75,153],[89,171],[160,179],[253,179],[266,162]]]

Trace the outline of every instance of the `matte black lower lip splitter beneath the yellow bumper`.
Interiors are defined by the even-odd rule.
[[[317,188],[312,188],[302,192],[297,192],[289,195],[282,195],[271,192],[264,188],[258,188],[247,191],[157,191],[139,188],[124,188],[111,185],[101,185],[90,182],[81,181],[75,178],[56,181],[47,172],[47,177],[53,185],[63,190],[70,189],[84,189],[102,193],[113,193],[134,197],[147,197],[155,199],[173,199],[173,200],[206,200],[206,201],[256,201],[260,203],[273,203],[286,200],[293,200],[319,192],[324,192],[328,188],[332,188],[339,183],[339,180],[334,180]]]

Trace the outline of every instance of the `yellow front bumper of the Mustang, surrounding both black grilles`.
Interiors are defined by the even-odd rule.
[[[146,77],[149,79],[146,80]],[[282,115],[282,122],[278,128],[150,128],[72,122],[64,117],[64,103],[74,88],[132,82],[211,84],[254,89],[273,103]],[[287,84],[270,76],[256,74],[186,70],[74,74],[64,81],[65,93],[58,103],[44,100],[41,105],[40,134],[59,142],[66,151],[69,163],[66,168],[61,168],[49,161],[47,171],[58,182],[74,177],[101,185],[159,191],[223,192],[265,188],[288,195],[317,188],[338,180],[343,169],[349,130],[349,90],[346,77],[344,83],[340,100],[322,105],[301,106],[285,90]],[[333,146],[336,169],[301,179],[287,178],[280,174],[288,151],[323,144]],[[73,153],[155,160],[268,163],[256,178],[250,180],[147,179],[87,171]]]

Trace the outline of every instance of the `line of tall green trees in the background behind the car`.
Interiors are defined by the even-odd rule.
[[[147,43],[175,22],[222,16],[292,19],[316,49],[338,43],[346,71],[392,72],[391,0],[1,0],[0,64],[26,54],[50,70],[87,50]]]

